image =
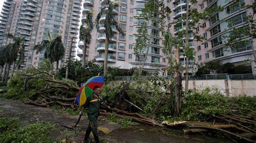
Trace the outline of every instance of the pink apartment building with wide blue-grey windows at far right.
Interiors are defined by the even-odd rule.
[[[255,49],[255,39],[251,43],[251,37],[244,37],[244,40],[248,40],[248,42],[246,44],[244,42],[238,42],[235,44],[235,49],[225,46],[227,37],[233,28],[248,26],[248,24],[246,25],[245,17],[252,15],[255,9],[244,9],[242,5],[252,3],[255,3],[255,1],[207,0],[198,2],[198,10],[201,12],[216,5],[222,6],[224,10],[215,13],[213,17],[203,22],[205,28],[199,28],[199,33],[207,38],[207,40],[195,44],[195,51],[197,52],[195,60],[197,63],[220,60],[223,63],[234,63],[234,65],[251,65],[252,69],[254,69],[254,62],[251,61],[254,61],[252,47]],[[255,20],[256,16],[253,19]],[[252,71],[255,72],[255,70]]]

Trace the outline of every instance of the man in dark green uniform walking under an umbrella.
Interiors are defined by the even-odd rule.
[[[86,111],[89,118],[89,125],[87,127],[84,140],[88,142],[90,141],[89,136],[91,131],[95,141],[99,142],[97,119],[99,116],[100,104],[104,104],[104,102],[100,100],[98,96],[99,92],[100,88],[98,86],[94,87],[93,95],[86,99],[85,104],[82,105],[82,111],[79,112],[79,115],[83,115],[84,110],[87,108]]]

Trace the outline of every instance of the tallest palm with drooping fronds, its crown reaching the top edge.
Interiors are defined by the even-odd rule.
[[[99,19],[100,19],[100,17],[102,17],[102,15],[104,13],[103,11],[106,10],[106,19],[105,19],[105,22],[104,22],[104,28],[106,30],[105,56],[104,56],[104,76],[107,75],[107,54],[109,52],[109,41],[111,40],[111,38],[114,35],[114,32],[112,31],[112,25],[114,27],[116,27],[117,31],[120,34],[124,35],[124,32],[122,31],[122,29],[119,28],[116,19],[114,19],[113,8],[114,8],[113,2],[109,1],[109,5],[104,6],[102,9],[100,9],[100,11],[99,11],[99,13],[96,17],[96,22],[95,22],[97,30],[99,30]]]

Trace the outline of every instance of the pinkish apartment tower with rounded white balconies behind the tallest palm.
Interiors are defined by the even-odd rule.
[[[112,2],[112,0],[110,0]],[[113,9],[114,17],[116,18],[119,27],[122,28],[125,35],[119,34],[115,27],[113,27],[114,36],[109,44],[108,53],[108,66],[120,67],[122,69],[130,69],[132,67],[139,66],[139,60],[136,55],[134,55],[133,46],[136,43],[136,37],[134,34],[137,33],[139,27],[139,19],[134,18],[138,16],[142,9],[144,8],[147,1],[127,1],[120,0],[118,3],[114,3],[115,8]],[[93,20],[95,20],[100,8],[108,4],[107,0],[84,0],[83,2],[83,16],[82,22],[85,22],[86,14],[91,10],[95,11],[93,14]],[[96,28],[92,31],[92,41],[89,46],[89,52],[87,59],[95,59],[99,63],[104,62],[104,51],[105,51],[105,28],[104,21],[105,15],[99,20],[99,31]],[[155,33],[151,37],[152,42],[149,48],[149,54],[147,55],[147,60],[145,62],[144,69],[156,71],[157,68],[162,68],[167,66],[167,60],[164,57],[163,48],[163,38],[160,30],[157,27],[149,27],[148,31],[153,30]],[[82,50],[83,42],[79,42],[79,48]],[[145,50],[146,53],[146,50]],[[78,56],[82,57],[82,52],[78,52]]]

